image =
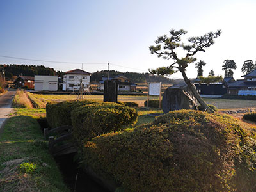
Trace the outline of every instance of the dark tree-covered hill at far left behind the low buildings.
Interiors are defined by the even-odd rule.
[[[63,72],[56,72],[54,68],[44,67],[44,65],[0,65],[0,71],[5,70],[5,76],[9,79],[15,76],[35,76],[35,75],[60,75]]]

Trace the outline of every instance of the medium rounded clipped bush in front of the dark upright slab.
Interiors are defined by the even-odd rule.
[[[71,119],[72,136],[80,143],[100,134],[121,131],[124,125],[136,124],[138,113],[134,108],[102,102],[74,109]]]

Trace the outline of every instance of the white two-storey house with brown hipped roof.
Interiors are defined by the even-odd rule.
[[[63,91],[74,91],[79,90],[80,83],[83,83],[83,86],[86,88],[90,84],[90,74],[81,69],[74,69],[65,72],[63,76]]]

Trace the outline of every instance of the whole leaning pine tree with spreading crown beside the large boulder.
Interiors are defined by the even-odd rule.
[[[155,43],[156,46],[150,46],[149,49],[152,54],[157,54],[159,58],[164,58],[166,60],[173,60],[173,63],[165,67],[166,73],[170,74],[170,70],[173,72],[180,71],[184,81],[188,85],[189,90],[193,93],[196,100],[201,104],[201,106],[205,109],[205,111],[209,113],[213,113],[214,111],[207,106],[204,100],[200,97],[199,93],[196,91],[195,86],[191,83],[186,75],[186,67],[188,67],[189,63],[193,63],[196,61],[194,57],[197,52],[205,52],[205,48],[210,47],[214,44],[214,39],[220,36],[221,31],[218,30],[216,32],[209,32],[203,36],[196,36],[188,38],[188,42],[190,44],[184,44],[181,42],[180,36],[185,35],[187,31],[180,29],[179,31],[175,31],[172,29],[170,31],[170,36],[163,35],[159,36]],[[182,48],[186,54],[183,57],[177,55],[177,49]],[[156,70],[150,70],[151,73],[159,74],[158,68]],[[161,74],[163,75],[163,67],[161,67]]]

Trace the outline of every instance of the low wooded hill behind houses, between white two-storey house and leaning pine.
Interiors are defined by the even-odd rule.
[[[130,79],[132,83],[147,83],[147,82],[162,82],[162,83],[172,83],[172,79],[161,76],[152,76],[149,73],[136,73],[136,72],[119,72],[116,70],[109,71],[109,77],[115,77],[118,75],[123,75]],[[90,77],[91,82],[99,82],[102,79],[102,76],[107,77],[108,71],[102,70],[97,71],[92,74]]]

